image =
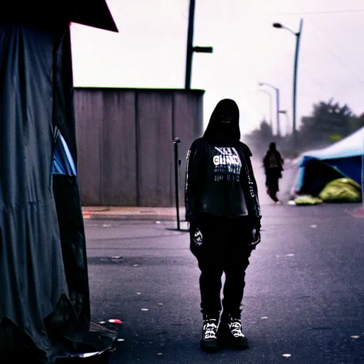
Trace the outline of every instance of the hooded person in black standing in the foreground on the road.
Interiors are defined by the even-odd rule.
[[[240,305],[249,257],[260,242],[261,219],[250,156],[240,142],[237,104],[221,100],[203,137],[193,141],[186,166],[186,220],[200,268],[200,346],[206,351],[218,350],[224,342],[238,349],[248,346]]]

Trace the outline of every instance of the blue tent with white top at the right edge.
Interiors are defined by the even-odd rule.
[[[324,149],[306,151],[296,162],[299,171],[292,194],[317,196],[333,179],[347,177],[363,186],[364,127]]]

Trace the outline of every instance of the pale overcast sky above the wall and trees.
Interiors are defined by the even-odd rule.
[[[72,25],[75,86],[183,88],[189,0],[107,0],[119,33]],[[331,97],[364,112],[364,2],[360,0],[196,0],[193,44],[213,46],[193,55],[191,87],[205,90],[205,125],[225,97],[240,107],[242,133],[268,120],[272,94],[292,117],[296,37],[272,27],[281,22],[298,31],[297,122],[312,105]],[[281,128],[287,127],[284,115]]]

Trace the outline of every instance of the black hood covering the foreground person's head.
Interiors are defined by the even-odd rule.
[[[203,134],[205,141],[215,144],[231,144],[240,141],[239,108],[234,100],[218,102]]]

